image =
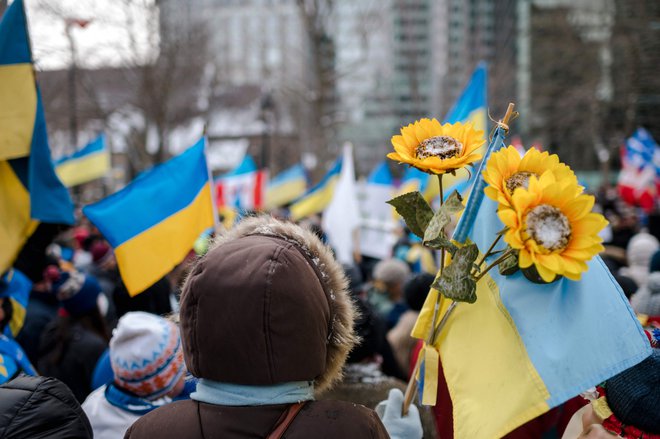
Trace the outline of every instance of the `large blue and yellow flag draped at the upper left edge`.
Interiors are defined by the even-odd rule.
[[[23,1],[0,21],[0,273],[39,221],[73,224],[73,204],[50,157]]]

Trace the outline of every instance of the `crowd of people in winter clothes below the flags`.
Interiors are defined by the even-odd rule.
[[[660,221],[606,195],[601,256],[658,347]],[[402,416],[435,255],[402,228],[391,258],[341,266],[309,221],[243,219],[134,297],[92,225],[40,225],[0,282],[0,438],[453,437],[446,389]],[[658,350],[626,373],[612,410],[657,437]],[[590,407],[507,437],[609,435]]]

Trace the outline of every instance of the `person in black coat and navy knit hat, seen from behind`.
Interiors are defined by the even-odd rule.
[[[110,339],[97,305],[101,287],[92,276],[61,271],[52,292],[59,315],[41,336],[37,370],[64,382],[82,403],[92,391],[94,367]]]

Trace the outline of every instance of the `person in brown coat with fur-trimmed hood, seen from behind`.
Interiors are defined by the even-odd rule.
[[[389,437],[371,409],[314,400],[340,378],[356,342],[346,289],[312,232],[268,217],[239,223],[184,283],[181,337],[197,391],[143,416],[125,437]]]

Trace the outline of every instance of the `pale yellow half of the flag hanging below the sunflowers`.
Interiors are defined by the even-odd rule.
[[[550,409],[548,390],[489,275],[477,284],[477,297],[456,307],[436,343],[456,439],[502,437]]]

